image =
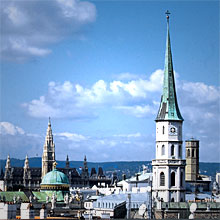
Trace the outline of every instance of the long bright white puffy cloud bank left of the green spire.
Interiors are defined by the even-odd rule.
[[[156,70],[149,80],[137,79],[129,82],[104,80],[95,82],[91,88],[65,81],[63,84],[50,82],[48,94],[34,99],[23,106],[33,117],[84,118],[96,117],[95,109],[110,106],[137,117],[155,112],[155,106],[140,102],[154,97],[162,85],[162,70]],[[157,95],[158,96],[158,95]],[[138,103],[137,103],[138,102]],[[134,105],[135,104],[135,105]]]

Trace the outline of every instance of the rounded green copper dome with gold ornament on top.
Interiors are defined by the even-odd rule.
[[[58,190],[65,188],[69,188],[68,177],[57,169],[47,173],[41,182],[41,189]]]

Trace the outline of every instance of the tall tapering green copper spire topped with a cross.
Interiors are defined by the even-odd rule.
[[[169,33],[169,11],[167,14],[167,42],[166,42],[166,56],[164,67],[164,81],[163,81],[163,94],[161,96],[160,108],[157,114],[156,121],[160,120],[177,120],[183,121],[177,103],[175,80],[173,73],[173,62],[170,45]]]

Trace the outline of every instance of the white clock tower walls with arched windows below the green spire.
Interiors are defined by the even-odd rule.
[[[185,161],[182,160],[182,122],[156,123],[153,197],[164,202],[185,201]]]

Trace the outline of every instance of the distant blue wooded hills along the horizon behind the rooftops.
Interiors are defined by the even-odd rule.
[[[6,160],[0,160],[0,168],[5,168]],[[57,161],[57,167],[65,167],[65,161]],[[41,167],[41,157],[29,158],[30,167]],[[122,174],[126,174],[127,177],[133,176],[135,173],[142,170],[142,165],[148,166],[151,169],[151,161],[115,161],[115,162],[88,162],[88,168],[92,167],[98,170],[98,167],[102,167],[105,174],[111,176],[113,172],[117,172],[119,178]],[[11,158],[11,166],[23,167],[24,160]],[[75,167],[78,170],[83,166],[83,161],[70,161],[70,167]],[[220,172],[220,163],[199,163],[200,173],[215,178],[216,172]]]

